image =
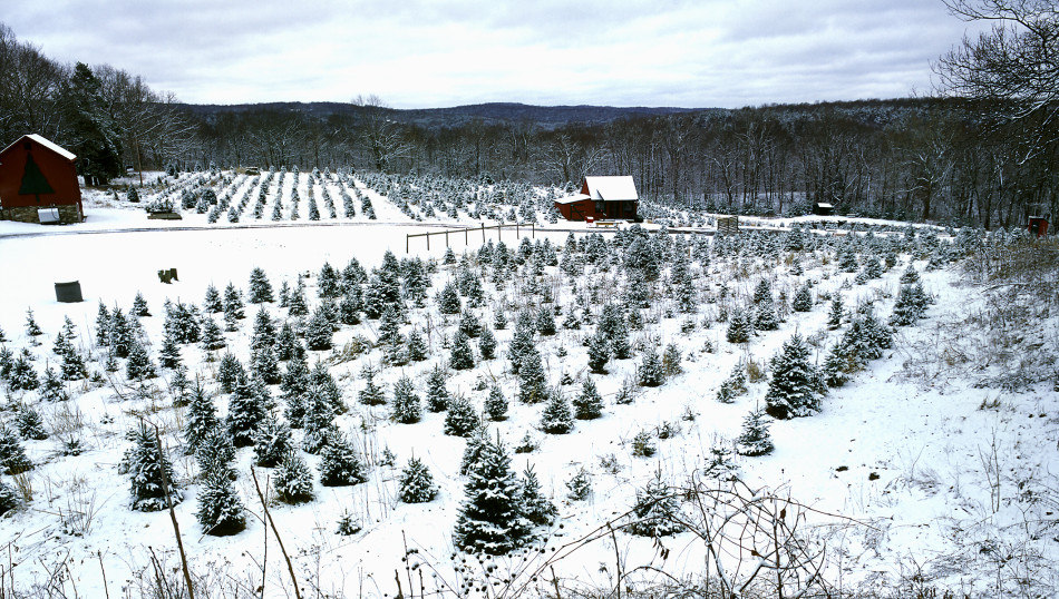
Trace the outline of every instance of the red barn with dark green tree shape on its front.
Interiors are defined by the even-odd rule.
[[[54,208],[61,223],[84,220],[76,159],[36,134],[0,150],[0,218],[40,223],[38,210]]]

